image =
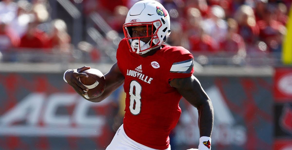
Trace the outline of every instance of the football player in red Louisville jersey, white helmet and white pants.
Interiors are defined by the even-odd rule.
[[[157,1],[143,0],[129,10],[123,26],[125,38],[117,49],[117,63],[105,74],[100,102],[124,83],[124,122],[107,150],[170,150],[169,134],[181,114],[182,96],[198,109],[199,150],[211,149],[213,106],[192,74],[193,56],[183,47],[163,44],[170,35],[170,16]],[[180,37],[177,37],[180,38]],[[86,87],[77,78],[90,67],[69,69],[64,80],[80,95]]]

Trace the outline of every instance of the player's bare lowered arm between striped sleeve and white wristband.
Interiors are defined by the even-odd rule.
[[[214,122],[213,105],[198,79],[193,75],[188,78],[174,78],[170,85],[198,109],[200,137],[211,137]]]

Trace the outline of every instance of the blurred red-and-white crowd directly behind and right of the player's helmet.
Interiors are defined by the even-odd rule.
[[[171,17],[166,41],[193,53],[279,53],[291,0],[157,0]],[[137,0],[84,0],[84,13],[100,13],[119,33]]]

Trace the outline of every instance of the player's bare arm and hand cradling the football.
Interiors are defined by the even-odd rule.
[[[86,76],[86,74],[80,73],[84,70],[90,69],[90,67],[81,67],[78,69],[68,70],[64,74],[64,78],[69,85],[71,85],[74,90],[84,97],[83,95],[86,94],[86,87],[77,80],[78,77]],[[117,63],[115,63],[112,68],[107,72],[105,75],[105,91],[103,92],[100,97],[94,99],[86,99],[92,102],[100,102],[107,98],[112,92],[117,90],[123,83],[124,83],[124,75],[121,73]],[[88,89],[87,89],[88,90]]]

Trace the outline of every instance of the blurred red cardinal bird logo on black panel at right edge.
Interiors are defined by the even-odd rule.
[[[281,115],[281,126],[284,130],[292,133],[292,108],[285,105]]]

